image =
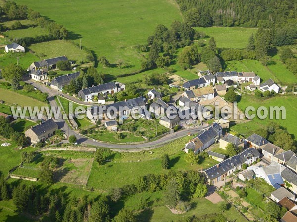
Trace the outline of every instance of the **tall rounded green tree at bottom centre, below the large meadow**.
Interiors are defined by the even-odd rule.
[[[170,208],[176,207],[178,202],[180,201],[180,191],[178,189],[178,183],[175,179],[171,179],[166,187],[164,193],[164,203],[168,205]]]

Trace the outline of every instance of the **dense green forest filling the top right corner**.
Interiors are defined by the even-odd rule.
[[[296,0],[176,0],[184,16],[198,9],[197,26],[270,27],[296,24]]]

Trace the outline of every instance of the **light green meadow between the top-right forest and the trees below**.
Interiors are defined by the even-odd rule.
[[[241,27],[197,27],[195,29],[214,37],[218,48],[245,48],[250,35],[257,31],[255,28]]]

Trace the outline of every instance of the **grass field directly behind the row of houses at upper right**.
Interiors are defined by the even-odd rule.
[[[263,66],[257,60],[244,59],[241,61],[232,60],[226,61],[225,70],[237,70],[245,72],[255,72],[261,77],[262,81],[272,78],[277,83],[294,83],[297,82],[297,77],[293,75],[286,66],[280,61],[276,61],[273,65]]]

